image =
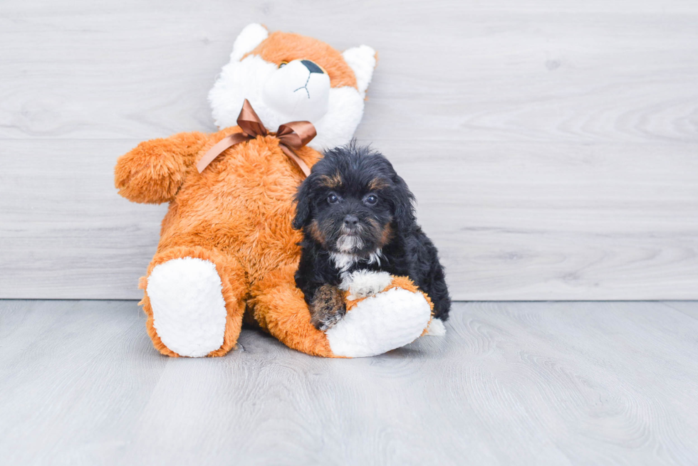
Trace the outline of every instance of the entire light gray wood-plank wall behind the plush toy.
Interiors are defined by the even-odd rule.
[[[261,21],[380,52],[358,137],[456,299],[698,298],[698,4],[422,3],[0,5],[0,297],[140,296],[164,208],[118,198],[115,159],[214,129],[207,91]]]

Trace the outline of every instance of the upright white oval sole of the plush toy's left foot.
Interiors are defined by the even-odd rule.
[[[153,327],[167,348],[180,356],[201,357],[222,346],[226,309],[213,263],[168,260],[152,270],[146,291]]]

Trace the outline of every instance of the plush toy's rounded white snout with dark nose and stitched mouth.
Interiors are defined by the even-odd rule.
[[[282,64],[264,84],[264,104],[286,121],[317,122],[328,111],[330,77],[311,60]]]

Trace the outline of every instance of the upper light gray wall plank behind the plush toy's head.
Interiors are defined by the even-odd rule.
[[[211,129],[207,92],[261,21],[379,51],[363,138],[698,142],[698,8],[606,3],[6,3],[0,137]]]

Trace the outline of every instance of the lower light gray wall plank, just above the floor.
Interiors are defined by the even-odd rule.
[[[15,157],[0,173],[0,296],[140,298],[165,206],[112,187],[115,158],[137,141],[4,143]],[[690,147],[434,147],[380,144],[417,195],[456,299],[698,297]]]

